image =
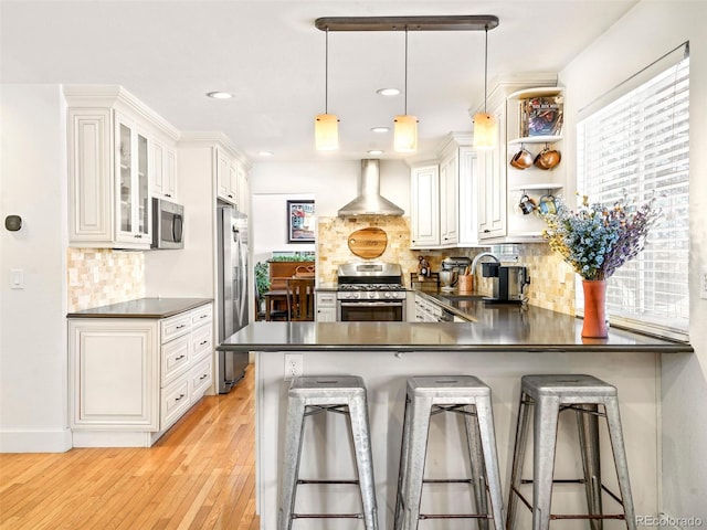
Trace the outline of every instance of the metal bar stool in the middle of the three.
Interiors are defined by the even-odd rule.
[[[467,437],[471,478],[424,478],[430,417],[443,412],[462,414]],[[464,483],[474,489],[476,513],[420,513],[424,483]],[[487,494],[492,512],[488,511]],[[395,530],[414,530],[423,519],[476,519],[482,529],[494,520],[496,530],[503,529],[503,491],[496,454],[496,435],[490,403],[490,389],[472,375],[415,377],[408,379],[403,420]]]

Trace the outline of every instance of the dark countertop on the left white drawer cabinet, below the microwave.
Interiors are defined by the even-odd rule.
[[[211,301],[211,298],[138,298],[70,312],[66,318],[167,318]]]

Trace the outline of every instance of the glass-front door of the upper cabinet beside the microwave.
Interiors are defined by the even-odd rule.
[[[116,115],[117,241],[149,247],[149,142],[131,121]]]

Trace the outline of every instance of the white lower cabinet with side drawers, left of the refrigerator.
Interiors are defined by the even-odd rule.
[[[74,447],[149,447],[212,386],[212,305],[71,318],[68,351]]]

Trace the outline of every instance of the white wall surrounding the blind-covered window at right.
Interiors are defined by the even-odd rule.
[[[663,358],[663,509],[673,517],[707,522],[707,300],[699,298],[698,273],[707,267],[707,3],[643,1],[562,73],[566,119],[578,109],[690,42],[690,343],[695,354]],[[573,152],[568,130],[566,152]],[[567,162],[572,167],[574,160]],[[631,455],[629,455],[631,457]]]

